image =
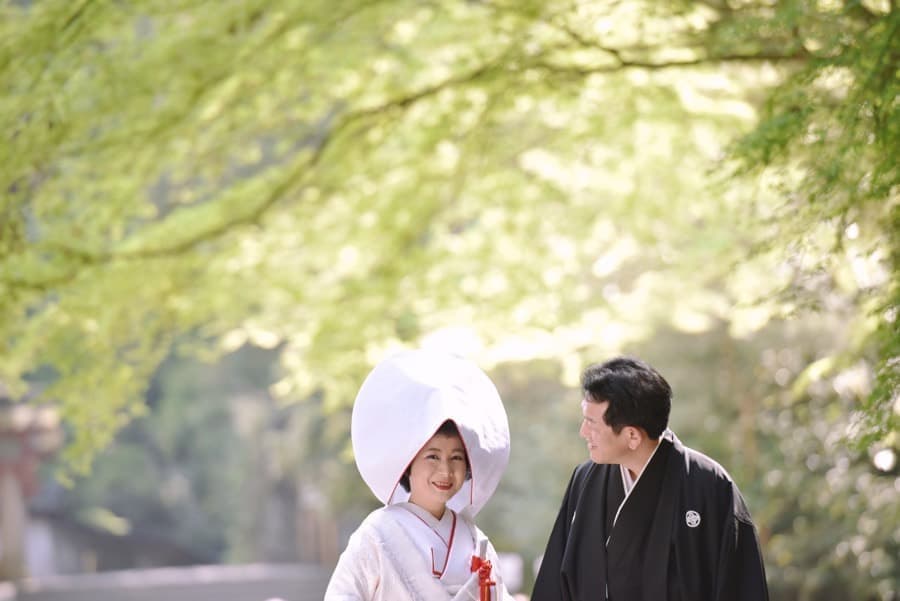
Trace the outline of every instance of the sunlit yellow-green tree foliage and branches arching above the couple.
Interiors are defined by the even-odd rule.
[[[898,23],[888,0],[0,2],[0,382],[59,405],[85,471],[173,353],[273,349],[271,394],[346,451],[395,347],[571,384],[702,334],[728,349],[702,361],[758,351],[728,410],[778,442],[759,455],[815,477],[855,441],[832,459],[863,478],[900,445]],[[795,509],[772,509],[785,581]]]

